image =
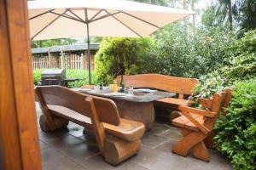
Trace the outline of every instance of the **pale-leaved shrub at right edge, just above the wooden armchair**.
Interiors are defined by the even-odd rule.
[[[246,44],[246,45],[244,45]],[[245,37],[237,40],[234,46],[227,48],[226,55],[233,51],[234,56],[230,56],[230,62],[223,68],[218,68],[207,75],[200,77],[200,84],[195,87],[197,98],[208,98],[227,86],[232,86],[233,82],[249,80],[256,77],[256,31],[247,32]]]

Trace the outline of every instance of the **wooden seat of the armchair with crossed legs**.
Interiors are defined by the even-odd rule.
[[[199,116],[195,114],[190,114],[190,115],[193,116],[196,119],[196,121],[200,123],[204,122],[203,116]],[[179,116],[176,119],[172,120],[172,125],[176,127],[185,127],[190,130],[199,131],[199,128],[196,127],[193,122],[190,122],[186,116]]]

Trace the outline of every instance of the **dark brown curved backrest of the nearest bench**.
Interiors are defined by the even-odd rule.
[[[36,93],[42,97],[43,105],[61,105],[88,117],[91,116],[92,111],[90,109],[90,102],[85,101],[85,99],[92,98],[100,122],[116,126],[120,123],[119,111],[111,99],[81,94],[61,86],[37,87]]]

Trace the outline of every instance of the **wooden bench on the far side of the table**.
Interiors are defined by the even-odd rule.
[[[117,78],[120,82],[120,77]],[[195,85],[199,83],[196,78],[168,77],[160,74],[141,74],[123,76],[125,87],[134,88],[154,88],[177,94],[177,98],[158,99],[154,105],[158,107],[178,110],[179,105],[193,105],[194,102],[185,99],[186,95],[191,95]]]

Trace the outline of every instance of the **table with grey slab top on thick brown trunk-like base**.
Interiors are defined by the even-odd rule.
[[[111,95],[110,90],[90,90],[83,91],[83,89],[77,89],[77,91],[96,95],[108,99],[113,99],[119,110],[119,116],[125,119],[130,119],[137,122],[143,122],[145,127],[151,128],[154,123],[154,105],[153,101],[156,99],[163,99],[173,97],[175,94],[162,91],[154,91],[152,93],[134,92],[134,94],[127,94],[125,92],[124,97]]]

